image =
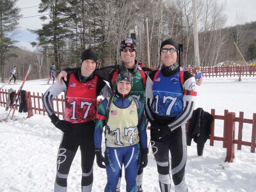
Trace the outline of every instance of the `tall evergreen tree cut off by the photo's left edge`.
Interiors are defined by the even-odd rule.
[[[10,47],[15,44],[13,32],[19,24],[20,9],[15,7],[17,0],[1,0],[0,1],[0,68],[1,77],[4,78],[4,61],[7,58],[15,56],[10,52]]]

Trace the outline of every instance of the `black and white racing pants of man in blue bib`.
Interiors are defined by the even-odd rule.
[[[172,136],[168,138],[168,140],[151,140],[151,146],[157,163],[161,191],[168,192],[171,187],[169,151],[172,156],[171,168],[175,191],[187,191],[188,189],[184,177],[187,160],[185,126],[178,127],[173,131]]]

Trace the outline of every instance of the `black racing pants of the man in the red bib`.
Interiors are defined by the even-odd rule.
[[[94,122],[73,124],[73,131],[63,134],[57,157],[54,191],[67,191],[67,177],[77,148],[81,151],[82,191],[91,191],[93,183]]]

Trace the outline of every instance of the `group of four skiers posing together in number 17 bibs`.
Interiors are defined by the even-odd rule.
[[[160,54],[163,65],[157,70],[141,68],[135,59],[134,40],[125,38],[120,44],[122,63],[98,68],[97,53],[86,49],[81,54],[81,67],[62,71],[59,83],[44,93],[44,108],[52,124],[63,131],[54,191],[67,191],[68,172],[78,147],[83,172],[81,191],[92,191],[95,156],[98,166],[106,168],[104,191],[120,191],[122,166],[126,191],[143,191],[143,168],[148,163],[147,121],[161,191],[171,188],[169,151],[175,191],[188,191],[184,177],[185,124],[195,106],[196,80],[179,67],[179,44],[175,40],[164,40]],[[52,106],[52,99],[61,92],[65,92],[66,102],[63,120]],[[97,107],[99,95],[104,100]]]

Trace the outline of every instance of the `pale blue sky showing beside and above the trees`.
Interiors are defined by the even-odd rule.
[[[216,0],[217,1],[217,0]],[[234,26],[237,24],[236,15],[240,15],[243,22],[251,22],[256,20],[256,0],[218,0],[220,2],[226,1],[226,14],[227,24],[226,26]],[[27,29],[39,29],[42,26],[42,21],[39,17],[31,17],[40,15],[38,13],[38,4],[40,0],[19,0],[17,6],[21,8],[21,14],[23,19],[20,19],[19,34],[17,35],[17,44],[19,47],[26,47],[30,51],[33,51],[33,47],[29,42],[36,41],[36,35],[30,33]],[[27,18],[26,18],[27,17]]]

